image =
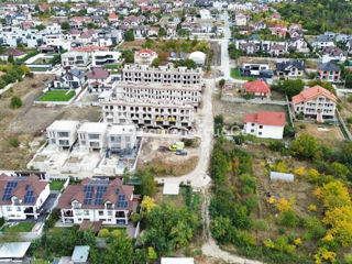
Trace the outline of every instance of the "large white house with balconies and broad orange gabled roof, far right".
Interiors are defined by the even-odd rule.
[[[314,86],[293,97],[295,113],[302,113],[305,118],[316,119],[318,122],[334,120],[338,98],[321,86]]]

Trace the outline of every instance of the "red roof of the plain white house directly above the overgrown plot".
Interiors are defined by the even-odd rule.
[[[285,127],[286,116],[285,112],[258,111],[256,114],[245,114],[244,122]]]

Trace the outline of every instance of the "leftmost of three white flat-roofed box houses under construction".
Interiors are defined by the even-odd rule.
[[[47,129],[48,143],[62,150],[70,148],[77,140],[79,121],[56,120]]]

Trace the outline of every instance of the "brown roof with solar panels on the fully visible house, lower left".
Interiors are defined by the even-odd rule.
[[[90,196],[88,198],[87,189],[90,188]],[[101,202],[97,201],[98,188],[106,188],[106,191],[101,194]],[[85,178],[80,185],[69,185],[63,193],[58,200],[57,208],[69,209],[73,201],[81,204],[82,209],[103,209],[105,202],[110,201],[114,205],[114,208],[131,210],[133,202],[131,200],[133,195],[133,186],[123,185],[120,178],[116,178],[112,182],[107,179],[91,179]],[[127,207],[119,201],[120,196],[125,196],[124,201],[128,202]],[[87,199],[91,199],[87,202]],[[99,198],[98,198],[99,199]]]

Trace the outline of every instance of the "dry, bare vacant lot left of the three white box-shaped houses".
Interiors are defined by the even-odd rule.
[[[43,79],[45,77],[48,77],[48,80],[44,84]],[[7,91],[1,95],[0,168],[25,168],[36,150],[45,143],[44,130],[55,120],[99,120],[99,108],[33,106],[34,99],[41,95],[44,86],[53,78],[53,75],[26,77],[13,86],[13,92]],[[19,109],[10,108],[13,95],[22,99],[23,106]]]

